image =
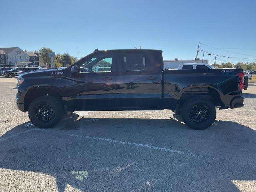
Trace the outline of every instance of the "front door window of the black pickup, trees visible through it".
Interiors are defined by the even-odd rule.
[[[80,64],[80,73],[111,72],[113,54],[100,54]]]

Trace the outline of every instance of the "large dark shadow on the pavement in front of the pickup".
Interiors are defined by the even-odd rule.
[[[216,121],[199,131],[172,118],[78,118],[72,114],[53,129],[35,128],[27,122],[0,137],[0,168],[50,174],[59,192],[64,192],[66,184],[84,191],[238,192],[232,180],[256,180],[255,165],[250,165],[256,159],[256,132],[236,122]]]

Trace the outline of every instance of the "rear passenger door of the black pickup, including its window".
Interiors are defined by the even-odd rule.
[[[116,107],[160,108],[162,68],[153,52],[118,52]]]

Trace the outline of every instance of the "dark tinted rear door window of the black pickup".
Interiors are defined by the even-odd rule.
[[[146,57],[143,54],[124,54],[122,63],[124,71],[140,71],[146,69]]]

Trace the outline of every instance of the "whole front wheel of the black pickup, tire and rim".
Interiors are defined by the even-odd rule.
[[[52,128],[64,115],[60,100],[53,96],[44,95],[34,99],[28,108],[31,122],[40,128]]]

